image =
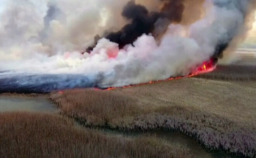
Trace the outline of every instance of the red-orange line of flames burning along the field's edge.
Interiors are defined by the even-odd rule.
[[[168,78],[164,81],[170,81],[170,80],[177,80],[177,79],[182,79],[182,78],[189,78],[189,77],[193,77],[193,76],[197,76],[203,73],[209,73],[211,71],[213,71],[216,68],[215,63],[213,62],[213,59],[204,62],[201,66],[199,66],[199,68],[197,68],[195,71],[192,71],[192,73],[188,76],[180,76],[180,77],[171,77]],[[137,85],[128,85],[128,86],[124,86],[124,87],[109,87],[106,90],[114,90],[116,88],[128,88],[128,87],[132,87],[132,86],[139,86],[139,85],[147,85],[147,84],[152,84],[152,83],[157,83],[157,82],[162,82],[163,80],[158,80],[158,81],[150,81],[148,83],[140,83]]]

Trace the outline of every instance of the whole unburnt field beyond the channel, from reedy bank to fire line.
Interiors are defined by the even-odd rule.
[[[255,83],[255,73],[251,67],[218,66],[198,78],[111,91],[67,90],[49,99],[86,126],[174,130],[208,149],[254,157],[256,87],[248,85]]]

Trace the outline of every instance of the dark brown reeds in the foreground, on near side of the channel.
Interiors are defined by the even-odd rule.
[[[107,136],[48,114],[0,113],[0,127],[0,156],[4,158],[193,157],[177,144]]]

